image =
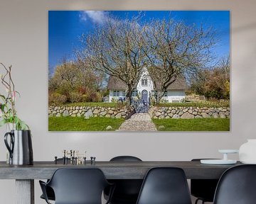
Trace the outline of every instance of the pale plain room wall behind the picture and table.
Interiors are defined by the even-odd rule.
[[[51,160],[62,149],[87,150],[97,160],[133,154],[143,160],[190,160],[221,157],[218,149],[235,148],[255,135],[255,0],[1,0],[0,61],[12,64],[18,114],[33,132],[35,160]],[[48,10],[230,10],[230,132],[48,132]],[[5,128],[0,129],[4,137]],[[6,157],[4,138],[0,160]],[[237,158],[237,157],[235,157]],[[36,203],[43,203],[36,181]],[[14,203],[14,181],[0,181],[1,203]]]

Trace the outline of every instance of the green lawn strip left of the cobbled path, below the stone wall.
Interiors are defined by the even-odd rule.
[[[107,131],[107,126],[117,130],[124,122],[124,119],[117,118],[90,118],[82,117],[49,117],[49,131]]]

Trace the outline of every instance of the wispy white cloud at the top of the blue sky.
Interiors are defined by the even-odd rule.
[[[104,23],[108,18],[107,11],[81,11],[80,20],[88,21],[91,20],[93,23]]]

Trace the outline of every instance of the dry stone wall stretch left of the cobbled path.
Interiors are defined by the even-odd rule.
[[[127,108],[105,108],[105,107],[85,107],[85,106],[49,106],[48,115],[50,117],[106,117],[106,118],[127,118],[131,114]]]

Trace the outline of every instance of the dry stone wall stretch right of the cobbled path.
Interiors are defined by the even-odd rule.
[[[230,108],[152,107],[149,115],[158,119],[230,118]]]

